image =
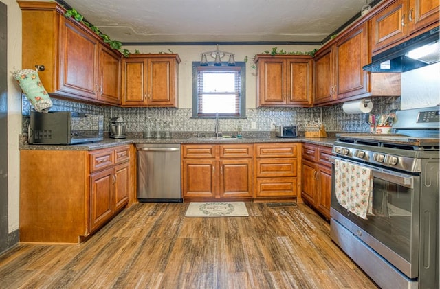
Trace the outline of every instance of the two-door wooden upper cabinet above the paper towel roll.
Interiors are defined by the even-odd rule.
[[[368,37],[362,23],[316,53],[314,104],[369,93],[369,75],[362,70],[371,60]]]

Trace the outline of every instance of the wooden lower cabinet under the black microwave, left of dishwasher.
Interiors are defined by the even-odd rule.
[[[133,196],[131,146],[20,151],[20,241],[78,243]]]

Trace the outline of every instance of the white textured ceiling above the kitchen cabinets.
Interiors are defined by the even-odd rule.
[[[122,43],[318,42],[371,0],[66,0]]]

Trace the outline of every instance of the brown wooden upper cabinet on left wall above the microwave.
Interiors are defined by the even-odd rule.
[[[65,9],[55,2],[17,2],[22,10],[23,68],[44,65],[39,77],[47,92],[120,104],[119,51],[83,23],[66,18]]]

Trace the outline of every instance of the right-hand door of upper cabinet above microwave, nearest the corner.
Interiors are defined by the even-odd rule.
[[[98,100],[111,104],[120,104],[120,57],[107,47],[100,45],[99,63]]]

